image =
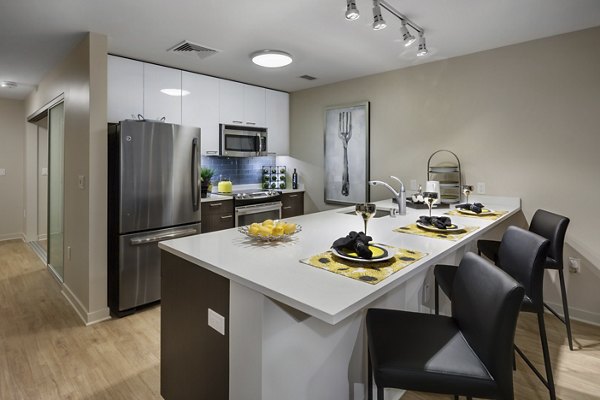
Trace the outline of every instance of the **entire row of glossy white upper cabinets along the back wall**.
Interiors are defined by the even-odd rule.
[[[219,124],[268,129],[268,151],[289,155],[289,94],[108,56],[108,122],[165,118],[202,129],[202,155],[219,154]]]

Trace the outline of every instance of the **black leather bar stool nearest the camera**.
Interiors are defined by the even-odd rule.
[[[512,348],[524,289],[467,253],[453,282],[452,317],[370,309],[368,398],[393,387],[513,399]]]

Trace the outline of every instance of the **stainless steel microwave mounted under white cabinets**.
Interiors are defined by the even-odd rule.
[[[267,128],[220,125],[220,155],[256,157],[267,155]]]

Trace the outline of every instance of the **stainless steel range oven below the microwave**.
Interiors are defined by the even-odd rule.
[[[281,219],[281,193],[259,191],[236,193],[233,196],[235,226],[249,225],[266,219]]]

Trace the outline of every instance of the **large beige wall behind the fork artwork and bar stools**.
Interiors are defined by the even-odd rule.
[[[292,93],[291,156],[307,211],[328,208],[325,107],[368,100],[372,179],[422,184],[430,154],[449,149],[466,182],[521,197],[527,220],[538,208],[569,216],[567,256],[584,259],[581,274],[567,273],[571,305],[600,323],[599,48],[594,28]],[[547,282],[547,298],[558,302]]]

